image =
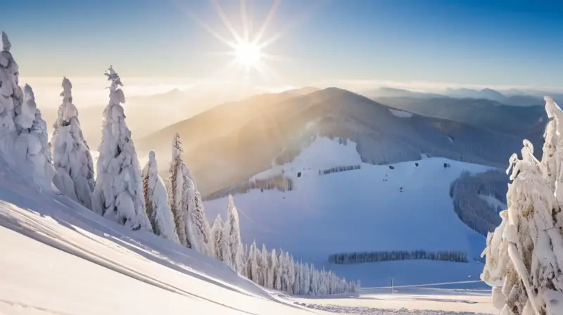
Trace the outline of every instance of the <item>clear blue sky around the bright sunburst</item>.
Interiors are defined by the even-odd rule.
[[[217,0],[243,34],[239,0]],[[273,0],[246,0],[256,34]],[[229,51],[190,15],[232,39],[210,0],[17,0],[1,27],[25,77],[222,79]],[[507,86],[563,84],[563,1],[281,0],[264,52],[284,60],[255,80],[390,80]],[[262,40],[263,41],[263,40]],[[289,59],[289,60],[286,60]]]

